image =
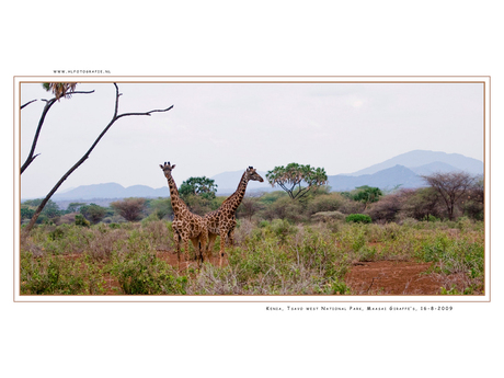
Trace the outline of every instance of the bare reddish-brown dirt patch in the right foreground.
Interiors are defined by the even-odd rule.
[[[358,295],[437,295],[443,286],[437,275],[426,275],[432,263],[377,261],[356,263],[345,276]]]

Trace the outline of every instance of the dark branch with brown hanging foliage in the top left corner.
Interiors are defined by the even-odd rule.
[[[50,100],[42,100],[45,101],[45,106],[42,111],[41,118],[38,119],[38,125],[35,130],[35,136],[33,137],[32,141],[32,148],[30,149],[28,156],[26,160],[24,161],[23,165],[21,165],[21,174],[28,168],[28,165],[35,160],[35,158],[39,154],[35,154],[35,148],[37,147],[37,141],[38,137],[41,136],[42,131],[42,126],[44,125],[44,121],[46,118],[47,113],[49,112],[50,107],[56,103],[56,101],[59,102],[59,99],[65,98],[65,99],[70,99],[72,94],[90,94],[93,93],[94,91],[84,91],[84,92],[76,92],[76,85],[77,83],[44,83],[43,87],[46,91],[53,91],[55,94],[55,98]],[[21,106],[21,108],[24,108],[26,105],[30,105],[31,103],[35,102],[36,100],[28,101],[24,105]]]

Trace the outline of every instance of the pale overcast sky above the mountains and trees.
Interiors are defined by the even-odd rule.
[[[177,185],[249,165],[290,162],[351,173],[415,149],[483,160],[481,83],[118,83],[119,113],[174,105],[167,113],[117,121],[60,191],[116,182],[167,185],[159,168],[176,164]],[[112,83],[80,83],[49,111],[21,197],[45,196],[111,121]],[[39,83],[21,85],[21,104],[50,99]],[[43,101],[21,112],[21,164]]]

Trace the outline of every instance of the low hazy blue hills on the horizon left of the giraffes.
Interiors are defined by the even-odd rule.
[[[168,197],[168,186],[152,188],[146,185],[133,185],[124,187],[116,183],[81,185],[65,193],[56,193],[51,199],[94,199],[94,198],[127,198],[127,197]]]

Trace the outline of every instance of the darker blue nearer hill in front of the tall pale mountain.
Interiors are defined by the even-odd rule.
[[[363,185],[376,186],[381,190],[392,190],[398,185],[401,188],[425,186],[422,177],[409,168],[399,164],[374,174],[363,174],[359,176],[337,174],[328,176],[328,184],[335,192],[352,191]]]

